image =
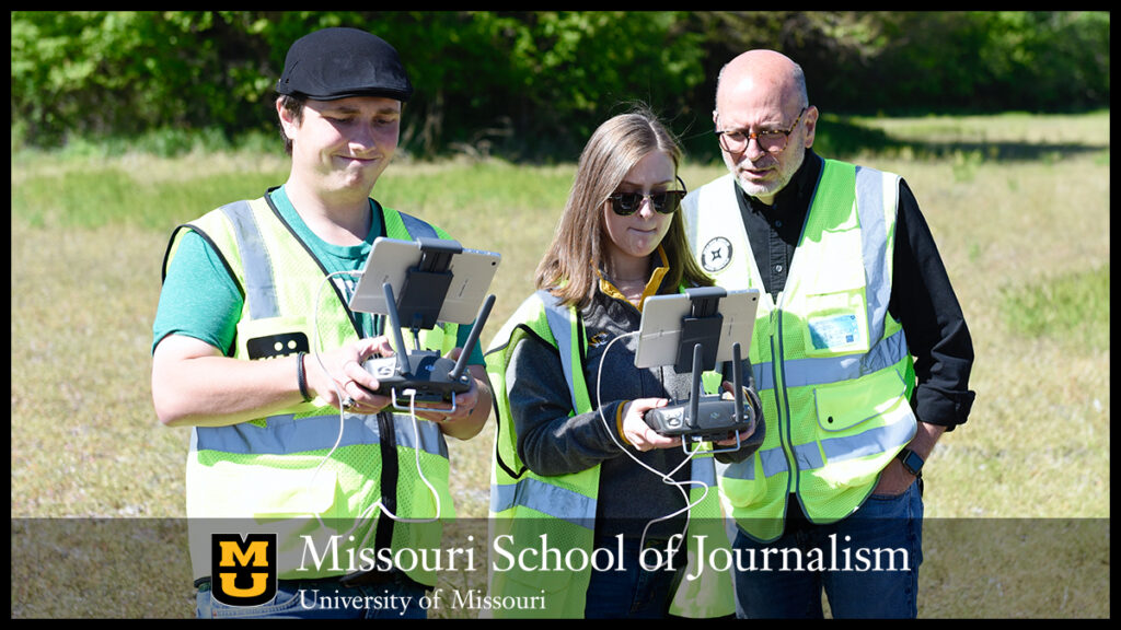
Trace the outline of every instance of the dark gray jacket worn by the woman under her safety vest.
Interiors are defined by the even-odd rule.
[[[661,287],[658,293],[677,290]],[[506,372],[518,456],[541,475],[576,473],[602,465],[596,536],[610,538],[623,532],[638,537],[650,520],[687,504],[688,484],[683,487],[683,494],[682,489],[663,482],[664,474],[678,467],[686,454],[680,447],[640,453],[626,445],[619,434],[619,413],[627,401],[637,398],[686,400],[691,376],[678,374],[673,367],[641,370],[634,367],[638,336],[624,335],[638,332],[641,312],[626,299],[596,290],[581,317],[589,340],[581,368],[594,410],[569,416],[572,396],[558,351],[534,335],[525,335],[512,350]],[[726,365],[724,373],[731,373]],[[751,387],[751,365],[747,359],[743,373],[745,385]],[[631,455],[658,473],[640,466],[620,445],[626,445]],[[721,461],[743,458],[735,452],[716,456]],[[691,479],[689,465],[680,466],[673,475],[674,481]],[[710,491],[716,492],[716,488]],[[675,520],[655,524],[647,536],[669,537],[682,532],[684,524],[683,513]]]

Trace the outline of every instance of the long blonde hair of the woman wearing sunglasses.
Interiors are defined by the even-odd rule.
[[[538,289],[547,289],[566,305],[587,306],[597,286],[596,270],[603,262],[605,239],[603,204],[636,164],[660,151],[674,163],[674,174],[682,160],[677,139],[646,108],[615,115],[601,124],[589,139],[576,166],[568,202],[557,222],[553,242],[537,266]],[[661,240],[669,262],[665,281],[678,286],[711,286],[694,260],[685,240],[682,212],[674,214]]]

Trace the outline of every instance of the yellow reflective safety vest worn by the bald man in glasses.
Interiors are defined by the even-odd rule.
[[[720,488],[739,526],[770,541],[791,493],[813,522],[854,512],[915,435],[914,364],[888,313],[899,176],[825,160],[778,296],[762,286],[735,186],[728,175],[689,195],[685,224],[719,285],[761,294],[750,359],[767,436]]]

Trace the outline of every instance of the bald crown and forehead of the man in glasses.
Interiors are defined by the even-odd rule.
[[[748,50],[729,62],[716,81],[716,112],[728,102],[750,92],[775,105],[800,110],[809,104],[806,75],[790,57],[775,50]]]

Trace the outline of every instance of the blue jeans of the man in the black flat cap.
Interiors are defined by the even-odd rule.
[[[231,606],[214,601],[207,585],[195,596],[195,613],[198,619],[427,619],[421,601],[426,594],[410,580],[359,586],[343,586],[337,580],[280,580],[271,602]]]

